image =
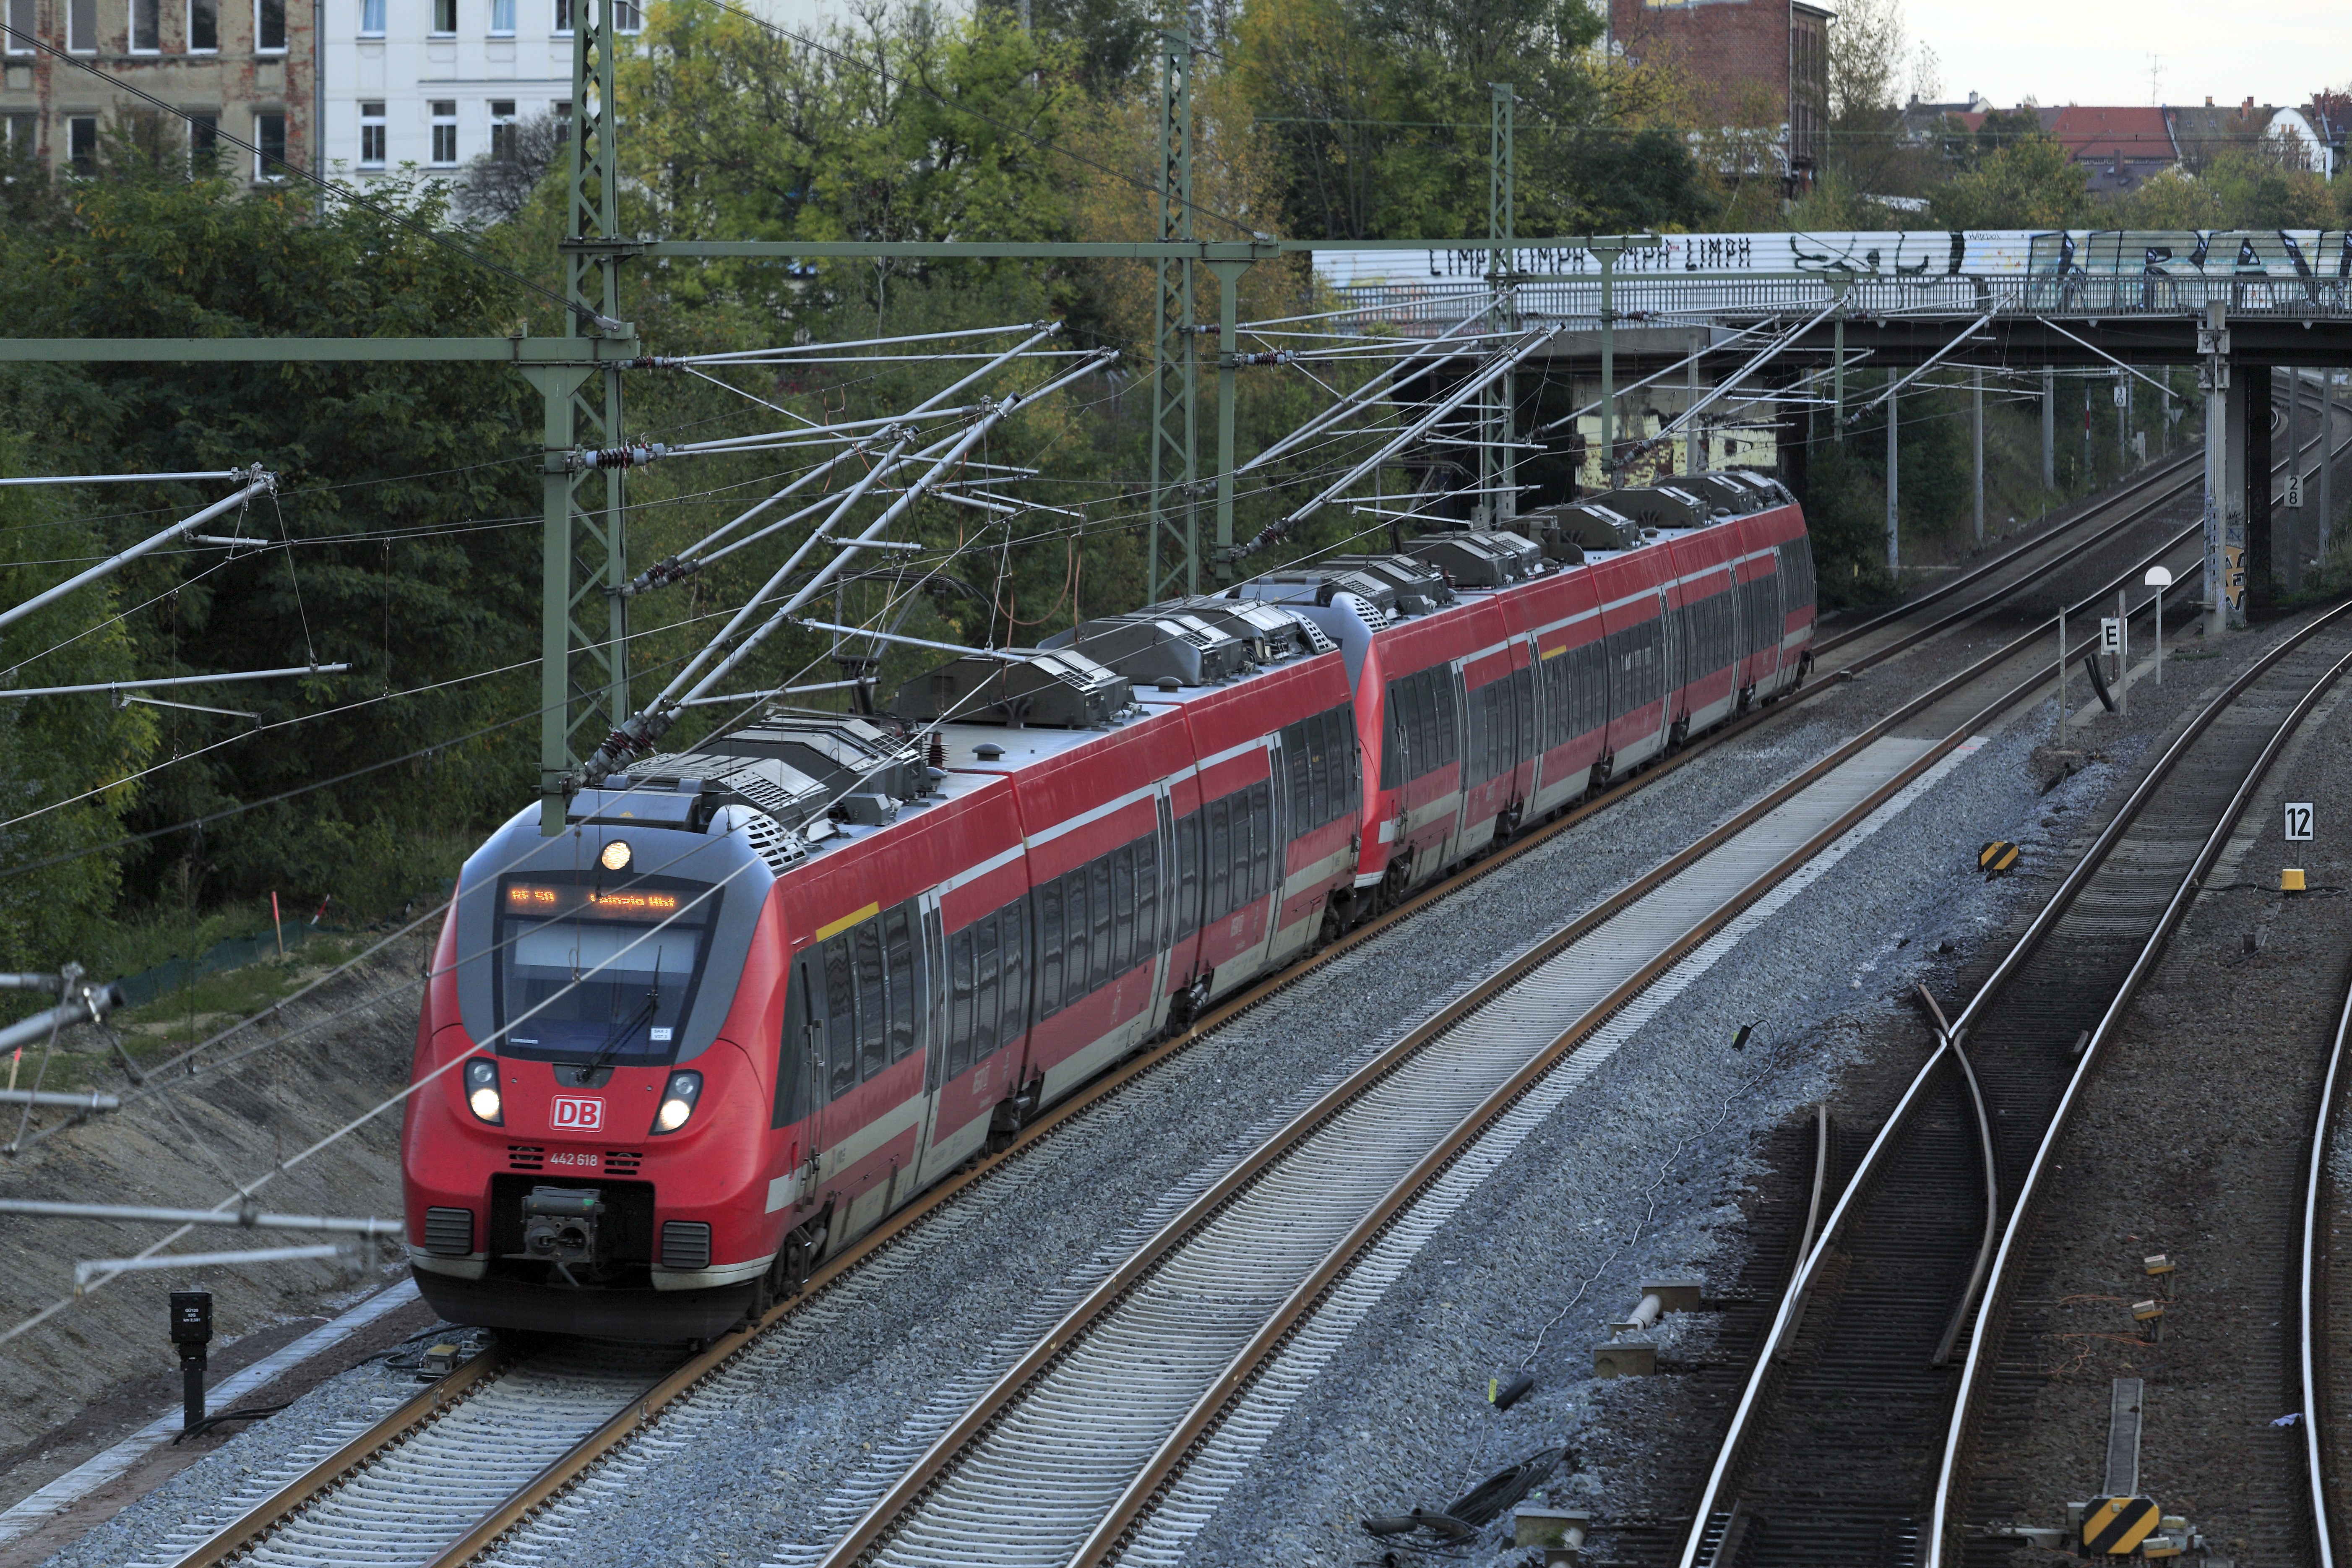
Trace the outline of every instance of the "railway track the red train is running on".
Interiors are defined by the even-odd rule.
[[[2145,520],[2176,489],[2164,489],[2178,465],[2145,475],[2122,496],[2084,508],[2074,520],[2058,524],[1999,557],[1971,569],[1962,578],[1945,583],[1924,604],[1936,604],[1964,592],[1971,585],[2004,578],[1990,595],[1971,602],[1959,614],[1940,616],[1929,630],[1905,635],[1900,628],[1910,609],[1879,616],[1860,628],[1842,632],[1832,644],[1844,646],[1867,635],[1893,632],[1884,642],[1865,649],[1867,663],[1882,663],[1926,637],[1964,621],[1992,611],[2004,597],[2044,581],[2049,574],[2072,564],[2089,548],[2107,543],[2126,527]],[[2161,491],[2154,501],[2150,489]],[[2122,520],[2117,520],[2122,510]],[[2089,529],[2089,538],[2077,538]],[[2060,545],[2051,550],[2051,545]],[[2164,548],[2176,548],[2169,541]],[[2039,559],[2037,559],[2039,557]],[[2112,588],[2110,588],[2112,592]],[[2030,637],[2009,644],[1992,661],[1971,665],[1976,675],[2016,656]],[[915,1206],[901,1211],[877,1232],[863,1237],[844,1253],[828,1258],[809,1279],[804,1295],[774,1307],[760,1328],[739,1328],[689,1356],[612,1354],[583,1347],[543,1349],[510,1345],[485,1352],[452,1373],[440,1385],[423,1389],[407,1403],[388,1410],[376,1425],[339,1443],[332,1453],[306,1465],[289,1481],[263,1488],[233,1521],[209,1533],[186,1533],[174,1537],[169,1549],[153,1556],[172,1568],[202,1568],[226,1561],[296,1563],[296,1561],[367,1561],[367,1563],[463,1563],[480,1556],[517,1521],[546,1507],[553,1497],[574,1486],[604,1455],[628,1446],[644,1427],[659,1422],[663,1413],[715,1378],[781,1321],[814,1305],[828,1288],[866,1267],[884,1253],[908,1229],[953,1204],[974,1182],[990,1178],[1009,1161],[1028,1157],[1058,1126],[1082,1114],[1101,1098],[1117,1093],[1124,1084],[1143,1077],[1169,1056],[1183,1051],[1225,1020],[1268,999],[1277,990],[1296,983],[1315,964],[1329,961],[1355,945],[1371,940],[1388,926],[1414,917],[1425,905],[1458,891],[1463,884],[1508,865],[1519,853],[1531,851],[1555,832],[1602,811],[1628,792],[1651,783],[1675,766],[1684,766],[1712,745],[1769,722],[1776,712],[1788,712],[1797,701],[1818,693],[1828,682],[1811,682],[1778,710],[1762,710],[1731,726],[1715,731],[1684,748],[1675,757],[1637,773],[1562,818],[1534,827],[1503,851],[1465,867],[1456,877],[1428,889],[1409,903],[1369,922],[1341,943],[1334,943],[1317,959],[1296,966],[1268,983],[1237,994],[1214,1009],[1185,1034],[1169,1039],[1134,1058],[1124,1067],[1105,1074],[1094,1086],[1065,1100],[1023,1131],[1021,1140],[1004,1154],[993,1157],[950,1182],[943,1182]],[[1929,698],[1907,703],[1896,719],[1917,715],[1938,693],[1959,689],[1945,682]],[[1893,719],[1889,719],[1891,724]],[[1867,731],[1882,736],[1886,724]],[[1853,748],[1820,766],[1849,759]],[[1769,797],[1778,799],[1778,797]],[[1621,896],[1623,900],[1625,896]],[[1602,905],[1602,912],[1621,900]],[[1595,912],[1595,914],[1602,914]]]

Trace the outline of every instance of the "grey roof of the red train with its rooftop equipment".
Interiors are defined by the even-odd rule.
[[[1359,651],[1341,649],[1319,611],[1341,607],[1371,632],[1442,621],[1522,583],[1790,503],[1764,475],[1691,475],[1531,512],[1526,531],[1449,529],[1402,552],[1277,567],[1221,595],[1084,621],[1035,649],[962,654],[901,686],[887,715],[764,705],[687,752],[581,790],[567,816],[668,825],[684,813],[699,825],[739,809],[729,820],[748,825],[753,849],[783,875],[1329,654],[1348,656],[1352,686]]]

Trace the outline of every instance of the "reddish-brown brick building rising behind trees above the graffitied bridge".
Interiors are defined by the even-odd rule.
[[[1802,188],[1823,153],[1832,19],[1804,0],[1609,0],[1609,47],[1637,61],[1672,54],[1719,125],[1776,118],[1783,174]]]

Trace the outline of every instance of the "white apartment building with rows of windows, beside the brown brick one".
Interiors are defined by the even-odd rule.
[[[87,0],[85,0],[87,2]],[[572,110],[574,0],[325,0],[327,167],[456,169]],[[614,7],[623,33],[642,26]]]

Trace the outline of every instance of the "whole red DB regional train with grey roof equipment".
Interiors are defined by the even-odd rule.
[[[1691,475],[767,708],[515,816],[440,936],[407,1239],[461,1324],[710,1338],[1211,999],[1811,658]],[[426,1081],[428,1079],[428,1081]]]

